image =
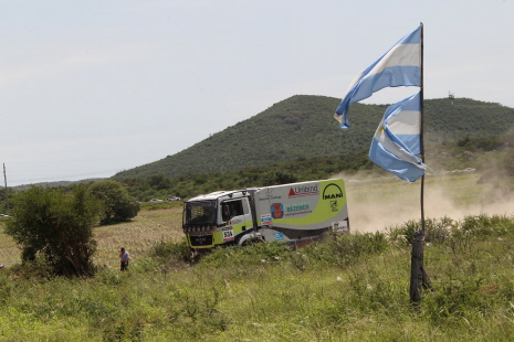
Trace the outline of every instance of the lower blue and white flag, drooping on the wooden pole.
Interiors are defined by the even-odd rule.
[[[421,153],[421,96],[415,94],[387,108],[369,149],[369,159],[380,168],[413,182],[428,168]]]

